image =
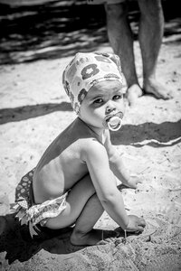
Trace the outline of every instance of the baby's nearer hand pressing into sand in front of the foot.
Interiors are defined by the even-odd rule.
[[[146,226],[146,221],[143,218],[138,218],[134,215],[129,215],[129,225],[127,231],[142,232]]]

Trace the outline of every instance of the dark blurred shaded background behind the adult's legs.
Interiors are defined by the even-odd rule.
[[[138,3],[129,4],[129,20],[137,40]],[[181,42],[179,1],[165,0],[162,5],[165,37],[175,35],[171,42]],[[0,29],[0,64],[62,58],[109,44],[104,5],[87,5],[81,0],[21,0],[19,5],[18,0],[0,0]]]

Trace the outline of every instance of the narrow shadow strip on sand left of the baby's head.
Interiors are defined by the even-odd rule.
[[[62,102],[0,109],[0,125],[44,116],[55,111],[72,111],[71,103]]]

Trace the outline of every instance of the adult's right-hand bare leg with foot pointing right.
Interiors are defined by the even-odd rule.
[[[164,15],[160,0],[138,0],[140,22],[138,39],[143,61],[143,89],[157,98],[170,98],[165,86],[157,82],[157,58],[164,33]]]

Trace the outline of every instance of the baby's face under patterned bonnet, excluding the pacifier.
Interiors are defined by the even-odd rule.
[[[119,81],[102,81],[94,85],[81,103],[81,119],[90,126],[107,128],[105,117],[125,112]]]

